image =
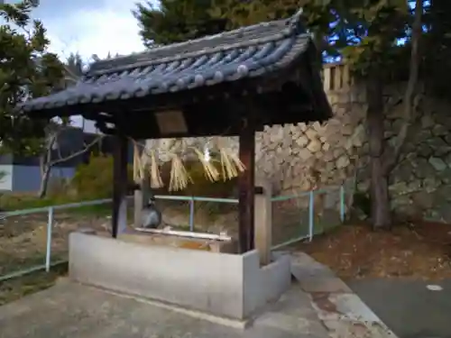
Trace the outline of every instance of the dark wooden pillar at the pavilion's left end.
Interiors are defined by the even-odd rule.
[[[123,233],[127,226],[128,140],[124,135],[115,137],[113,162],[113,215],[111,221],[112,235],[116,238],[117,234]]]

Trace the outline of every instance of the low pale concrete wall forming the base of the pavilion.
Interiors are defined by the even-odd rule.
[[[124,242],[87,233],[69,237],[69,278],[210,315],[249,318],[290,287],[290,256],[260,266],[243,255]]]

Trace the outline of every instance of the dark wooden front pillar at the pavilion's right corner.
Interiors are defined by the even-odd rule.
[[[238,244],[240,253],[253,250],[254,176],[255,176],[255,124],[244,121],[240,132],[240,160],[246,168],[238,178]]]

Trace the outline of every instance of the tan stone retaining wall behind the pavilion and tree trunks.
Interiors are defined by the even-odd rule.
[[[340,185],[356,178],[357,190],[366,193],[368,142],[364,126],[365,97],[343,65],[324,69],[324,86],[334,117],[319,123],[287,124],[258,132],[256,175],[270,178],[277,194]],[[389,88],[386,132],[389,142],[400,128],[402,84]],[[425,97],[410,129],[405,152],[391,175],[392,206],[400,214],[451,222],[451,114],[450,105]],[[188,139],[202,146],[206,139]],[[236,138],[223,142],[236,149]],[[163,151],[171,140],[152,140],[148,146]],[[351,185],[352,186],[352,185]],[[349,185],[348,191],[350,190]]]

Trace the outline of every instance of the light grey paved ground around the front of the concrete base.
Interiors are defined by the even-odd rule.
[[[298,281],[246,330],[64,279],[0,307],[0,338],[396,337],[330,269],[291,257]]]

